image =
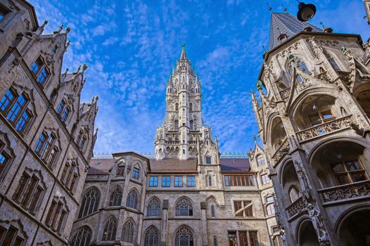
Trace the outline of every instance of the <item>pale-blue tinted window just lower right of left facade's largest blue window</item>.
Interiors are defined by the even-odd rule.
[[[34,152],[46,162],[49,168],[53,169],[53,162],[59,152],[56,134],[53,131],[44,130],[39,136]]]

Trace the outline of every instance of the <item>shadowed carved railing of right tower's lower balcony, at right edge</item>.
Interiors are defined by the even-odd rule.
[[[345,202],[358,198],[370,198],[370,180],[324,188],[318,191],[324,200],[324,204]]]

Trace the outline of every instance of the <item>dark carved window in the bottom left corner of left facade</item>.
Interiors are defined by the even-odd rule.
[[[27,234],[20,221],[0,221],[1,246],[25,246]]]

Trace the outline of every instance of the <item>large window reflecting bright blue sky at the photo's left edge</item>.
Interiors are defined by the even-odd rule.
[[[33,104],[25,91],[8,89],[0,101],[0,112],[8,119],[16,131],[24,134],[33,117]]]

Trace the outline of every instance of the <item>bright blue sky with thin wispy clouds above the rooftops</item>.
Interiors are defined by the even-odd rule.
[[[370,36],[362,0],[311,0],[314,25],[334,32]],[[91,1],[32,0],[45,33],[63,23],[71,46],[64,69],[86,63],[82,101],[99,96],[96,153],[153,152],[155,129],[165,117],[165,84],[181,44],[203,89],[203,119],[222,152],[253,147],[257,125],[250,90],[268,47],[270,12],[266,1]],[[297,1],[270,0],[297,12]],[[64,71],[63,69],[63,71]]]

